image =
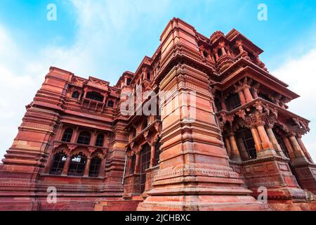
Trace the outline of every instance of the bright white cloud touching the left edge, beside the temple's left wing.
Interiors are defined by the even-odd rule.
[[[11,146],[25,114],[25,105],[44,80],[43,70],[28,63],[11,35],[0,25],[0,158]]]

